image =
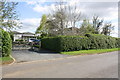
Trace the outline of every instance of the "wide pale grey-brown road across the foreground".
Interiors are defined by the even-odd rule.
[[[3,78],[118,78],[118,52],[3,66]]]

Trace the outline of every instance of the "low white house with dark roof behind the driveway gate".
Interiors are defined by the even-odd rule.
[[[18,40],[18,39],[22,39],[24,41],[28,41],[30,42],[31,39],[36,39],[37,36],[33,33],[30,33],[30,32],[24,32],[24,33],[20,33],[20,32],[17,32],[17,31],[13,31],[14,33],[14,41]]]

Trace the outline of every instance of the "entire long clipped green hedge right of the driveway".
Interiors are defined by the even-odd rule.
[[[57,52],[120,47],[120,38],[100,34],[85,36],[48,37],[41,40],[41,47]]]

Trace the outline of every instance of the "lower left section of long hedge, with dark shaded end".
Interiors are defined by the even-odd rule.
[[[89,49],[89,44],[88,38],[81,36],[59,36],[41,40],[42,48],[57,52]]]

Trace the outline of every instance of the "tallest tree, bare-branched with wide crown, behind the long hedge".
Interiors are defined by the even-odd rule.
[[[59,35],[66,35],[65,29],[69,26],[72,27],[72,33],[74,34],[74,29],[76,23],[81,19],[81,13],[77,6],[67,5],[65,2],[60,1],[55,5],[53,14],[49,18],[49,25],[53,25],[54,32],[57,32]]]

